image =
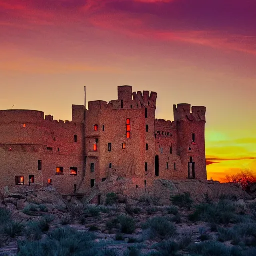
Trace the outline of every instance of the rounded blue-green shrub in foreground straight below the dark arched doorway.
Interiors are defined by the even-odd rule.
[[[143,229],[150,229],[151,238],[157,236],[159,238],[168,238],[176,234],[177,228],[173,223],[167,221],[164,217],[153,217],[142,224]]]

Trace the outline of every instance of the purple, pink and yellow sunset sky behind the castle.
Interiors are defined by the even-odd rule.
[[[156,118],[206,106],[208,179],[256,172],[255,24],[255,0],[0,0],[0,109],[156,91]]]

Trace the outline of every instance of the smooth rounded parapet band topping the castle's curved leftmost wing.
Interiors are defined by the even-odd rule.
[[[37,110],[1,110],[0,111],[0,122],[41,122],[44,119],[44,112]]]

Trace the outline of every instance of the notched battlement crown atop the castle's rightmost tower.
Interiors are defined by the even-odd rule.
[[[190,104],[173,105],[174,121],[204,121],[205,122],[205,106],[192,106]]]

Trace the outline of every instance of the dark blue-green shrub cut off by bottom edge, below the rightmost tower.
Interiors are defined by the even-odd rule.
[[[230,256],[230,249],[217,241],[206,241],[188,246],[191,253],[207,256]]]

